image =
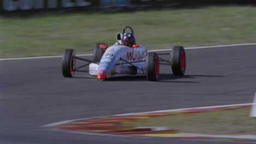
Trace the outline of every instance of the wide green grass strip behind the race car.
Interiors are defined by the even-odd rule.
[[[67,48],[91,53],[96,43],[113,44],[124,26],[132,26],[149,50],[253,43],[255,13],[254,7],[230,6],[0,17],[0,58],[61,55]]]

